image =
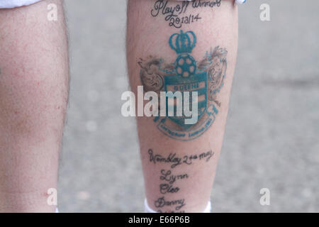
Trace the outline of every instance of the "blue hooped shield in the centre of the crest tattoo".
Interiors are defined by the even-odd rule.
[[[205,113],[207,106],[207,72],[192,74],[189,77],[183,77],[181,75],[166,76],[164,77],[164,89],[165,92],[172,92],[173,94],[176,94],[176,92],[181,92],[181,96],[174,95],[173,103],[169,103],[169,97],[166,98],[166,109],[167,116],[169,117],[169,119],[171,119],[184,129],[188,129],[191,126],[194,126],[192,124],[185,123],[185,119],[191,118],[191,116],[189,117],[184,115],[184,92],[189,92],[190,111],[192,111],[193,104],[196,105],[195,101],[191,99],[192,92],[198,92],[197,106],[199,120],[201,116],[203,116],[203,114]],[[182,101],[178,100],[180,98],[182,98]],[[181,101],[181,103],[179,101]],[[181,111],[181,116],[177,116],[178,108],[179,111]],[[169,110],[172,109],[174,109],[174,116],[169,116]]]

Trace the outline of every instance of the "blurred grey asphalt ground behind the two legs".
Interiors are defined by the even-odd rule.
[[[271,21],[259,6],[271,6]],[[125,0],[66,0],[71,90],[62,148],[62,212],[143,211],[135,119],[121,116]],[[248,0],[214,212],[319,211],[319,1]],[[259,190],[271,192],[270,206]]]

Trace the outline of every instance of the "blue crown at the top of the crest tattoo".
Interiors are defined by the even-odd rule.
[[[190,53],[196,45],[196,35],[192,31],[175,33],[169,38],[169,45],[177,54]]]

